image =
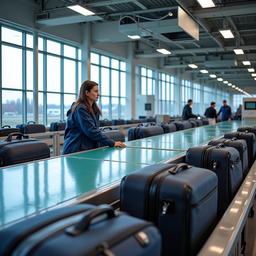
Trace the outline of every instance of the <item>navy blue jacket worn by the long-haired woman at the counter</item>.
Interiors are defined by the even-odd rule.
[[[75,113],[68,111],[62,155],[90,150],[98,147],[98,142],[113,147],[115,142],[99,130],[100,113],[93,108],[91,115],[86,105],[80,104]]]

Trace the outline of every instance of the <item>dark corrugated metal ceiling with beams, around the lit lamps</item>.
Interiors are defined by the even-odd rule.
[[[40,2],[41,11],[39,13],[45,14],[50,11],[61,13],[62,10],[64,12],[66,11],[66,3],[76,1],[49,0],[47,2],[41,0]],[[113,21],[118,21],[120,16],[125,13],[159,18],[165,15],[171,7],[180,6],[199,24],[199,41],[194,39],[186,43],[181,41],[167,43],[148,34],[148,36],[137,40],[134,56],[137,58],[164,57],[162,68],[182,68],[183,72],[193,73],[194,79],[205,79],[204,81],[212,82],[217,82],[217,80],[210,78],[209,74],[216,74],[217,77],[221,77],[240,88],[249,88],[246,90],[251,94],[256,93],[256,81],[247,70],[254,67],[256,71],[256,1],[215,0],[215,2],[216,7],[203,9],[196,0],[80,1],[81,4],[96,11],[96,15],[94,18],[91,16],[90,20],[94,24],[107,22],[114,24]],[[56,6],[58,7],[56,8]],[[89,16],[86,17],[89,18]],[[220,34],[219,29],[223,28],[224,20],[232,29],[234,38],[225,39]],[[113,41],[118,40],[118,37],[113,38]],[[124,40],[132,39],[125,37],[122,41]],[[156,52],[159,45],[170,50],[172,54],[164,56]],[[243,49],[244,54],[234,54],[234,48]],[[244,60],[249,60],[251,66],[243,65],[242,61]],[[189,68],[187,66],[189,63],[196,64],[198,68]],[[209,73],[203,74],[200,69],[206,69]],[[228,89],[234,91],[233,88]]]

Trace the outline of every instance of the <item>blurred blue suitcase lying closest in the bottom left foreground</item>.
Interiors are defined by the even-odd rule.
[[[47,211],[0,231],[0,255],[146,256],[161,254],[151,222],[109,205],[77,204]]]

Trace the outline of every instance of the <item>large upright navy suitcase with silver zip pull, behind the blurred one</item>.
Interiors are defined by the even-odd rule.
[[[122,179],[120,210],[156,224],[162,255],[194,256],[216,226],[217,183],[206,169],[153,164]]]

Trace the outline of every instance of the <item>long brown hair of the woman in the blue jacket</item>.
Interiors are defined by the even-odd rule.
[[[85,94],[86,91],[90,92],[91,89],[95,86],[95,85],[98,85],[98,83],[95,83],[93,81],[90,81],[90,80],[86,80],[82,83],[81,85],[81,88],[80,88],[80,91],[79,91],[79,95],[78,95],[78,99],[77,101],[74,103],[74,105],[72,106],[72,112],[74,113],[76,108],[81,104],[83,103],[84,105],[87,106],[87,108],[89,109],[90,113],[93,115],[93,108],[92,106],[94,106],[94,108],[96,108],[99,112],[100,112],[100,115],[102,116],[102,113],[101,113],[101,110],[100,108],[98,107],[98,104],[96,102],[93,102],[92,103],[92,106],[90,105],[90,102],[88,100],[88,96]]]

